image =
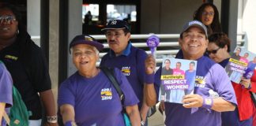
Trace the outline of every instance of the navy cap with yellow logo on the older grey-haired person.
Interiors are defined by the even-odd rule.
[[[70,49],[78,44],[95,46],[97,50],[102,50],[104,48],[104,45],[102,43],[97,42],[96,39],[92,38],[92,36],[89,35],[77,35],[76,37],[74,37],[70,43]]]

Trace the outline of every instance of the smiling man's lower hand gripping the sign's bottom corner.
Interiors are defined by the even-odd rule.
[[[183,97],[183,106],[185,108],[201,107],[203,98],[200,95],[185,95]]]

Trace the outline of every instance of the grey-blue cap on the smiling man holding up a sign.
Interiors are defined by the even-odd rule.
[[[205,36],[206,38],[208,38],[207,35],[207,28],[205,27],[205,24],[202,24],[200,21],[198,20],[191,20],[189,22],[187,22],[184,27],[183,27],[183,31],[180,33],[180,35],[183,34],[183,32],[185,32],[186,30],[188,30],[191,27],[197,27],[197,28],[201,28],[202,31],[205,32]]]

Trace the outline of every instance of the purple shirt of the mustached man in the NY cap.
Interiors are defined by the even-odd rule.
[[[100,61],[100,66],[118,68],[122,71],[140,100],[139,109],[143,101],[146,57],[145,50],[138,49],[129,43],[122,55],[115,57],[115,53],[111,50]]]

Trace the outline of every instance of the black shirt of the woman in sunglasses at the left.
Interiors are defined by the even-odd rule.
[[[27,37],[29,38],[25,43],[30,44],[27,49],[29,54],[21,55],[24,51],[21,50],[22,45],[26,44],[21,44],[22,40],[17,39],[15,43],[0,51],[0,60],[5,63],[13,78],[13,85],[17,87],[28,111],[32,113],[29,119],[38,120],[42,118],[42,106],[38,92],[51,89],[51,80],[40,47],[32,42],[29,35]]]

